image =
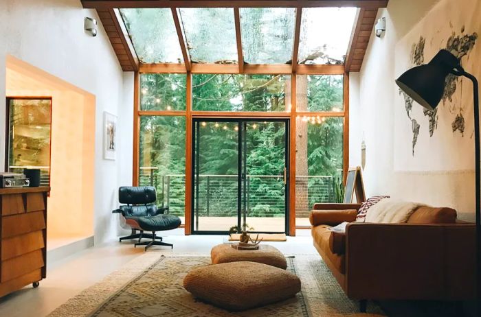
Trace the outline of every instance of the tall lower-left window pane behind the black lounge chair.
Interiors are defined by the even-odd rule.
[[[157,204],[184,216],[186,198],[186,118],[140,117],[139,185],[157,189]],[[182,223],[184,223],[182,221]]]

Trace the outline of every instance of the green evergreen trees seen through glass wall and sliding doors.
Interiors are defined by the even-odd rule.
[[[311,76],[308,82],[309,104],[322,110],[342,106],[342,77]],[[142,75],[141,108],[143,110],[185,109],[185,75]],[[283,75],[210,75],[192,77],[194,110],[280,111],[285,110]],[[337,80],[337,84],[333,81]],[[314,85],[314,86],[313,86]],[[326,118],[322,124],[308,124],[306,137],[309,178],[309,204],[334,202],[339,188],[331,176],[340,176],[343,164],[342,117]],[[185,201],[184,117],[142,117],[140,124],[140,166],[157,167],[153,172],[143,169],[141,180],[157,186],[159,203],[168,203],[170,212],[183,215]],[[199,215],[236,216],[238,194],[238,129],[235,122],[205,122],[199,125]],[[282,122],[247,122],[245,134],[249,216],[278,217],[284,215],[283,182],[285,126]],[[237,130],[236,130],[237,129]],[[195,132],[195,131],[194,131]],[[193,152],[197,154],[196,144]],[[151,173],[151,174],[150,174]],[[210,176],[209,180],[206,175]],[[216,175],[222,175],[218,177]],[[143,178],[142,178],[143,177]],[[209,189],[208,189],[209,181]],[[335,180],[337,181],[337,180]],[[141,182],[141,183],[142,183]],[[322,187],[322,192],[320,188]],[[206,197],[209,190],[209,207]],[[294,190],[294,189],[291,189]],[[168,197],[167,197],[168,193]],[[196,206],[197,207],[197,206]]]

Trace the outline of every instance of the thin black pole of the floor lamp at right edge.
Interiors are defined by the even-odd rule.
[[[481,299],[481,180],[480,180],[480,96],[479,96],[479,84],[476,77],[467,73],[466,71],[462,71],[463,76],[469,78],[471,82],[473,82],[473,97],[474,97],[474,152],[475,152],[475,165],[476,165],[476,268],[477,268],[477,276],[476,276],[476,288],[477,288],[477,296],[478,301]]]

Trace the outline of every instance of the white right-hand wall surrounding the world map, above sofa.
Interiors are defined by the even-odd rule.
[[[359,80],[355,76],[351,78],[354,82],[351,86],[359,84],[359,99],[351,103],[351,121],[354,121],[358,136],[364,134],[366,141],[363,176],[368,196],[389,194],[434,206],[453,207],[460,213],[460,218],[472,220],[473,171],[394,171],[394,47],[437,2],[390,0],[388,8],[379,10],[378,18],[386,18],[385,36],[371,35]],[[354,116],[355,110],[359,110],[359,117]],[[360,151],[359,148],[353,151]]]

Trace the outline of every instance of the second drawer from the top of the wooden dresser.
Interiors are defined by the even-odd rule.
[[[8,215],[1,219],[1,238],[6,239],[45,229],[44,211]]]

